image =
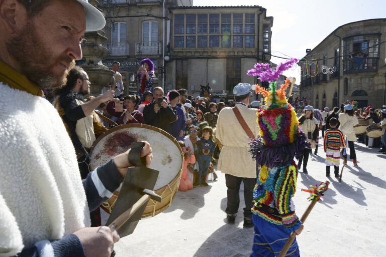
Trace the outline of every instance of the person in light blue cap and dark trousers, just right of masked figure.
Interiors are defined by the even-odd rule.
[[[303,173],[308,174],[307,163],[308,157],[311,153],[311,149],[316,149],[316,138],[318,137],[319,122],[314,117],[314,107],[307,105],[304,107],[304,113],[299,117],[299,125],[303,130],[303,133],[307,136],[307,141],[310,142],[311,148],[306,148],[304,155],[299,158],[298,168],[300,169],[303,162]]]

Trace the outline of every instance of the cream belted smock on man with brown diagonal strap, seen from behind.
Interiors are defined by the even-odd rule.
[[[256,122],[257,109],[248,109],[242,104],[237,104],[248,127],[255,138],[259,133]],[[217,120],[216,138],[223,145],[217,168],[222,173],[237,177],[256,177],[256,162],[252,160],[249,153],[249,137],[241,127],[232,108],[226,107],[221,110]]]

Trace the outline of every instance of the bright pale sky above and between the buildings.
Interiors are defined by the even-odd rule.
[[[237,4],[236,4],[237,3]],[[326,0],[326,1],[252,1],[252,0],[193,0],[194,6],[261,6],[267,16],[273,16],[271,54],[301,59],[306,49],[315,48],[339,26],[347,23],[386,18],[385,0]],[[271,58],[279,64],[285,60]],[[253,67],[251,67],[253,68]],[[245,71],[246,72],[246,71]],[[283,73],[295,77],[300,84],[298,70]]]

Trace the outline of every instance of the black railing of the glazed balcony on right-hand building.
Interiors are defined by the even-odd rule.
[[[377,72],[378,57],[361,57],[343,61],[343,74],[358,72]]]

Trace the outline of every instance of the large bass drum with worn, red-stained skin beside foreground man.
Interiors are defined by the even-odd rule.
[[[153,148],[150,168],[158,170],[159,175],[154,191],[162,196],[162,201],[149,200],[142,217],[154,216],[170,206],[178,190],[182,173],[182,150],[177,140],[165,131],[145,124],[125,124],[109,129],[95,140],[90,148],[92,169],[108,162],[114,156],[126,152],[131,143],[147,141]],[[101,207],[111,213],[119,191]],[[128,206],[130,207],[130,206]]]

